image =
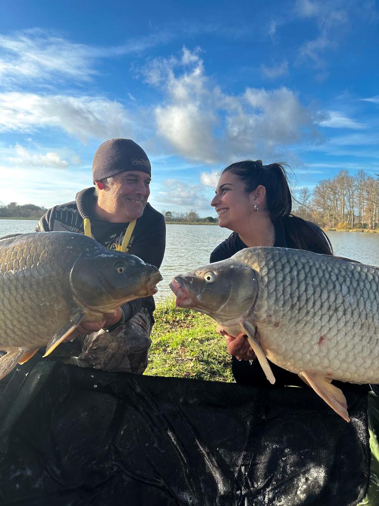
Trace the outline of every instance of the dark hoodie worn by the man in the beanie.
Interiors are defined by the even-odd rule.
[[[84,234],[84,218],[89,218],[91,233],[100,244],[116,249],[121,245],[129,223],[110,223],[92,216],[93,205],[96,202],[94,188],[85,188],[76,195],[76,200],[62,205],[56,205],[42,216],[36,227],[36,232],[75,232]],[[166,245],[166,226],[164,217],[149,203],[146,204],[144,214],[138,218],[129,241],[129,253],[136,255],[144,262],[160,268]],[[122,306],[125,320],[132,318],[141,307],[147,308],[152,320],[155,309],[153,297],[137,299]]]

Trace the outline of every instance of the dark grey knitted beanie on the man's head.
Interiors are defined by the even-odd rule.
[[[131,139],[110,139],[103,142],[93,156],[93,183],[124,171],[141,171],[151,176],[148,155]]]

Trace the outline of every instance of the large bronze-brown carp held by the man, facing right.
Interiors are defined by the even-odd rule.
[[[157,292],[154,266],[69,232],[0,239],[0,379],[41,347],[49,355],[81,321]]]

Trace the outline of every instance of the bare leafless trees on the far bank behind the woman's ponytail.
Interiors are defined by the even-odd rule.
[[[355,176],[340,171],[320,181],[313,193],[297,192],[293,213],[326,229],[371,229],[379,226],[379,174],[360,170]]]

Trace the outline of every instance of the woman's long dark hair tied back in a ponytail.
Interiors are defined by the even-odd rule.
[[[285,163],[263,165],[262,160],[245,160],[232,163],[222,171],[231,172],[245,184],[250,193],[257,186],[266,189],[266,203],[270,219],[280,223],[298,249],[333,255],[331,243],[323,230],[313,222],[291,215],[292,195],[288,185]]]

